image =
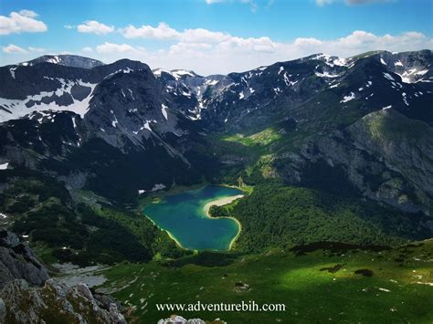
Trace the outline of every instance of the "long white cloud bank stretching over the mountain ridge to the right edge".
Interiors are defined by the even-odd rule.
[[[169,37],[170,42],[159,49],[146,50],[133,44],[105,42],[97,47],[84,47],[80,54],[92,53],[105,62],[127,57],[141,60],[151,68],[187,68],[208,75],[245,71],[315,53],[351,57],[377,49],[407,51],[433,48],[431,37],[414,31],[400,35],[375,35],[355,30],[335,39],[299,37],[290,42],[277,42],[269,37],[236,37],[203,28],[177,31],[167,25],[165,27],[172,36]],[[159,32],[151,32],[153,39]],[[134,43],[137,44],[137,41]]]

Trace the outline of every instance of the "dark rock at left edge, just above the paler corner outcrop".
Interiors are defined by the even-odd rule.
[[[14,233],[0,229],[0,288],[14,279],[40,286],[48,280],[48,271]]]

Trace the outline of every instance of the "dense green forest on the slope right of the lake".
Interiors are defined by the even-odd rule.
[[[428,236],[415,221],[421,215],[279,183],[259,184],[247,198],[214,206],[211,214],[239,220],[242,233],[235,249],[245,252],[318,241],[395,245]]]

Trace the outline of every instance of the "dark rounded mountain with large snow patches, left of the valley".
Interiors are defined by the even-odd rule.
[[[202,141],[201,127],[175,109],[147,65],[43,60],[0,68],[0,80],[0,162],[9,168],[54,172],[71,188],[88,185],[110,198],[118,189],[121,200],[194,178],[185,152]],[[100,183],[109,174],[120,179],[113,193]]]

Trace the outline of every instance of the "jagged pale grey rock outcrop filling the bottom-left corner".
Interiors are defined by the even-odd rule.
[[[3,288],[1,296],[7,309],[6,323],[126,323],[115,303],[106,307],[84,284],[67,287],[48,279],[44,287],[32,287],[25,280],[14,280]]]

